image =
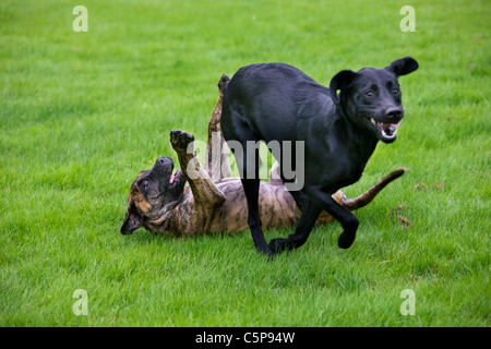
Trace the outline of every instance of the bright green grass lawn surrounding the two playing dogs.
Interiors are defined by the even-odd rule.
[[[72,2],[0,3],[1,326],[490,325],[489,1],[411,1],[415,33],[399,29],[406,1],[83,4],[88,33]],[[398,140],[345,192],[410,171],[357,212],[351,249],[338,222],[272,262],[248,231],[119,233],[137,172],[177,160],[169,131],[205,140],[223,73],[282,61],[328,84],[404,56],[420,69],[400,79]]]

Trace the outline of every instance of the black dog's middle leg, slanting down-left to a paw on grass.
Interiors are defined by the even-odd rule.
[[[310,236],[310,232],[315,225],[315,220],[321,214],[322,208],[314,204],[312,201],[304,198],[302,215],[298,221],[295,232],[291,233],[287,239],[273,239],[270,241],[270,248],[278,253],[285,250],[292,250],[300,248],[306,243]]]

